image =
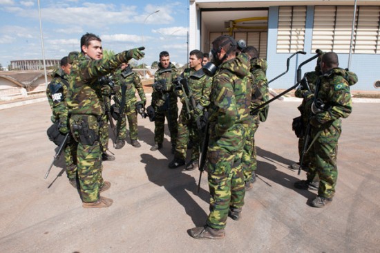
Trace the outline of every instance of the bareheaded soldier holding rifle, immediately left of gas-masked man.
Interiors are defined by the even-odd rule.
[[[198,168],[202,134],[197,127],[196,120],[200,120],[200,117],[202,117],[209,106],[212,82],[212,78],[206,75],[202,70],[202,58],[203,54],[200,50],[192,50],[189,57],[190,68],[186,68],[180,76],[180,78],[187,79],[187,84],[196,102],[196,108],[193,109],[193,111],[188,111],[184,93],[180,87],[181,85],[178,84],[178,97],[180,97],[183,106],[178,120],[178,136],[175,145],[174,160],[169,163],[169,168],[171,169],[184,165],[189,138],[192,143],[192,150],[191,160],[187,164],[186,169],[193,170]]]

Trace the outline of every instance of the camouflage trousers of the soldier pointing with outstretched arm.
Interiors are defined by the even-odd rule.
[[[81,129],[82,122],[88,123],[88,129]],[[99,121],[94,115],[71,115],[70,130],[77,142],[77,175],[83,202],[95,202],[99,199],[99,189],[103,186],[102,151],[99,143]],[[84,133],[85,132],[85,133]],[[93,143],[84,143],[83,135],[95,136]],[[82,138],[80,138],[82,135]]]

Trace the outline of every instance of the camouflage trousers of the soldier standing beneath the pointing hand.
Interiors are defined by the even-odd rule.
[[[125,140],[126,138],[126,118],[129,124],[129,137],[131,140],[137,140],[137,113],[135,103],[126,104],[125,106],[126,117],[122,117],[122,122],[120,123],[120,132],[117,136],[118,139]]]

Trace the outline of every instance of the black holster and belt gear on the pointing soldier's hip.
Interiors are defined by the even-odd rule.
[[[100,122],[102,122],[102,116],[87,114],[82,114],[80,116],[81,117],[79,120],[73,119],[73,123],[71,124],[73,132],[75,133],[75,138],[79,138],[80,142],[83,145],[93,145],[96,141],[99,140],[99,127],[97,130],[91,129],[91,127],[89,127],[88,118],[90,116],[93,116],[97,121],[97,126],[100,126]]]

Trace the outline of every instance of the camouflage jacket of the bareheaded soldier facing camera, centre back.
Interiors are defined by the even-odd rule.
[[[152,105],[162,106],[164,102],[169,102],[170,104],[177,104],[177,93],[175,93],[175,85],[173,80],[177,79],[178,73],[177,68],[174,64],[169,64],[169,67],[162,68],[161,63],[158,64],[158,71],[154,73],[154,82],[164,80],[165,91],[163,93],[155,91],[153,88],[152,93]]]

